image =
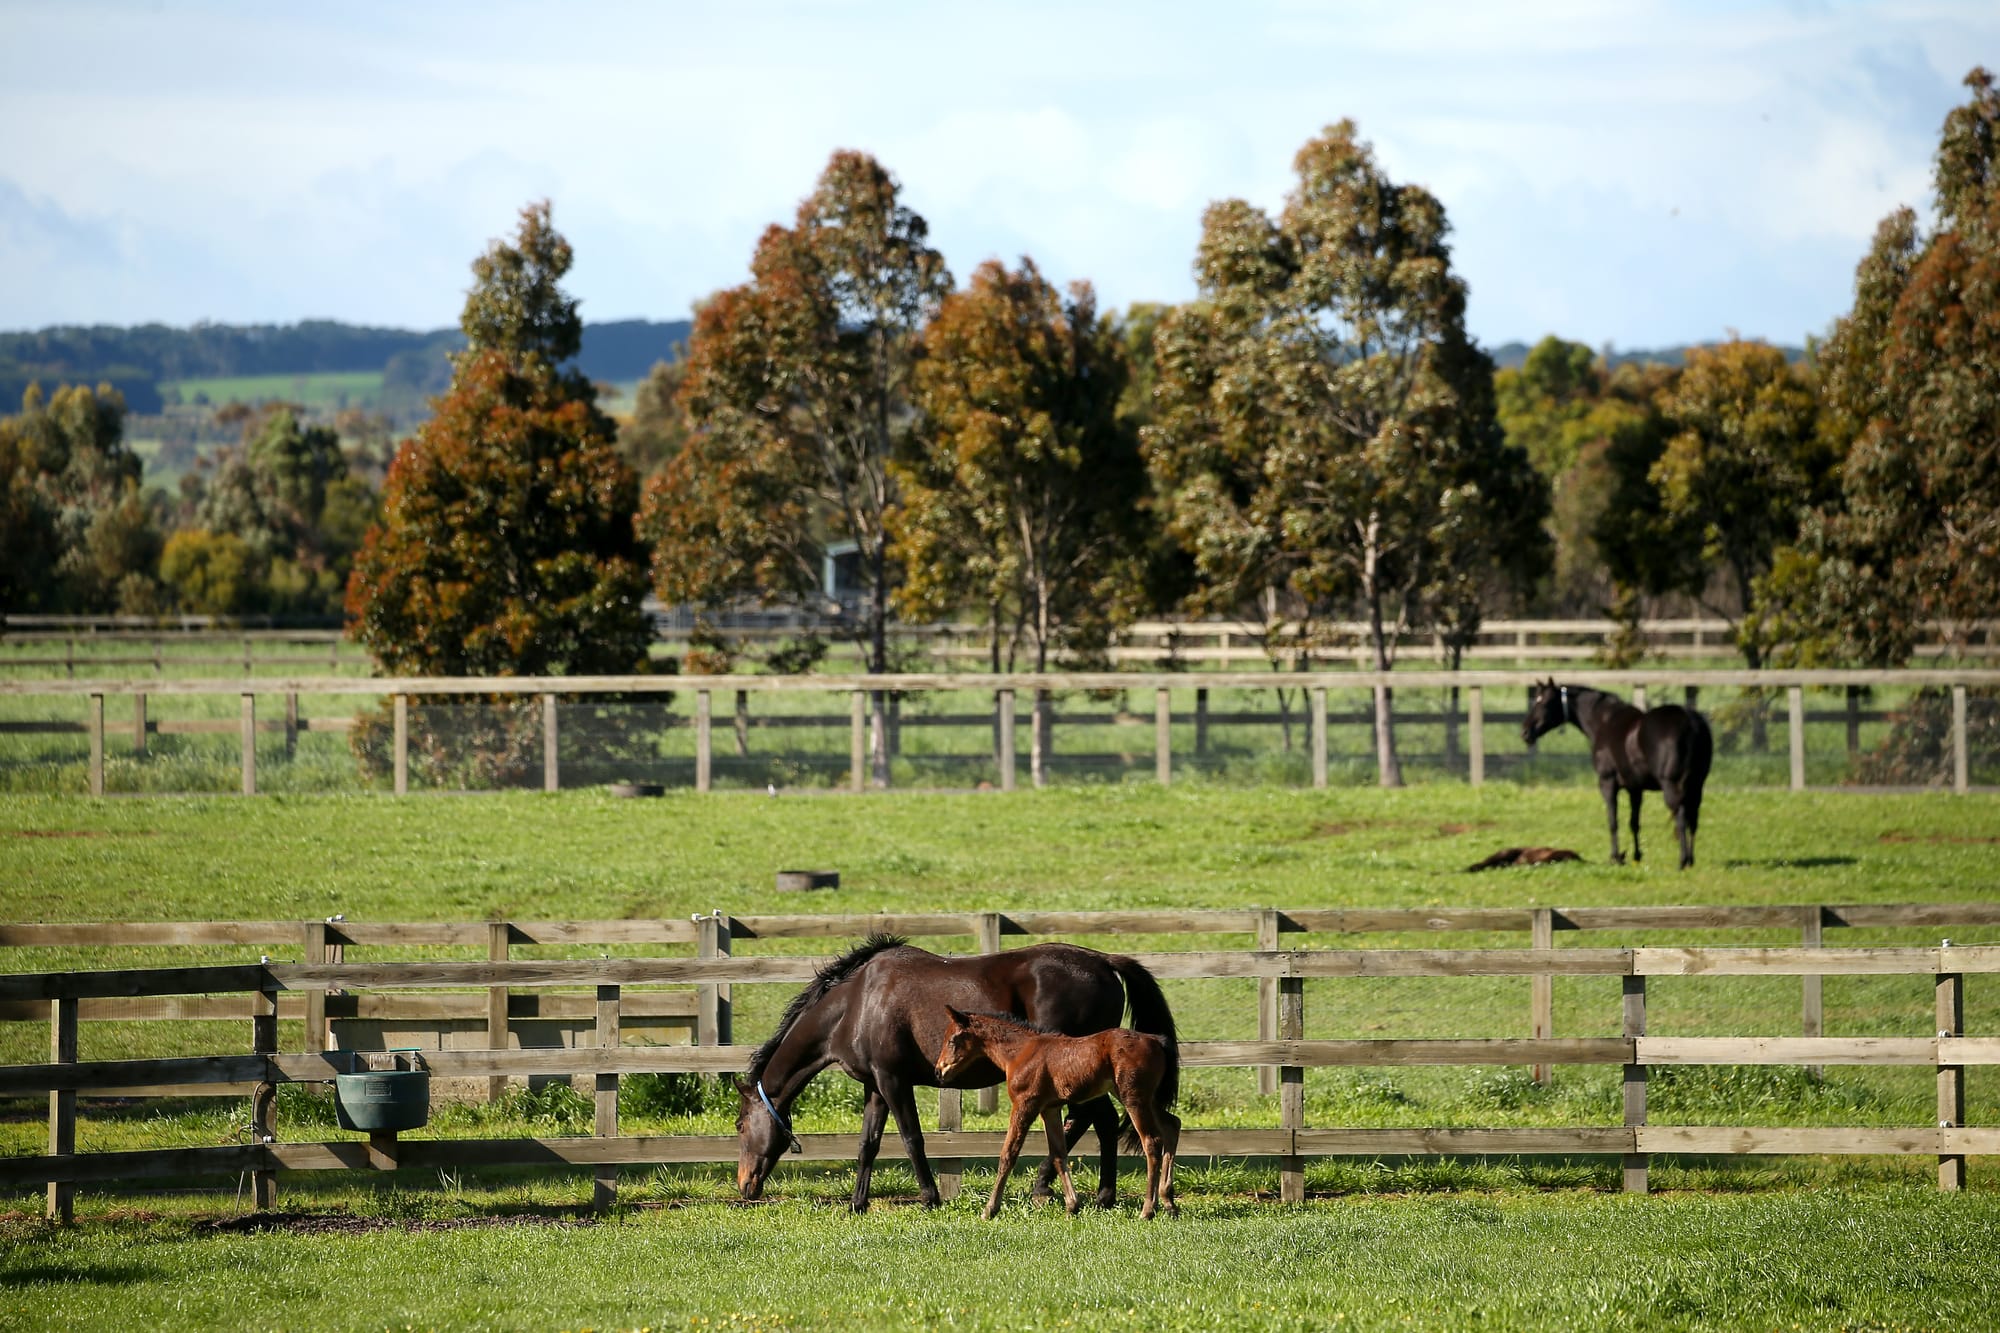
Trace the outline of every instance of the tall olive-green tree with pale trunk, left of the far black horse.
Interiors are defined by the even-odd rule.
[[[1376,669],[1426,610],[1462,538],[1542,490],[1500,434],[1492,362],[1464,330],[1444,206],[1398,186],[1352,122],[1300,148],[1274,220],[1210,206],[1200,296],[1162,320],[1146,454],[1168,528],[1192,552],[1208,606],[1262,608],[1278,628],[1360,606]],[[1538,540],[1538,528],[1528,536]],[[1376,693],[1376,759],[1402,783],[1390,691]]]

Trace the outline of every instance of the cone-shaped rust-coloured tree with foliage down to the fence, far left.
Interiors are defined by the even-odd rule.
[[[644,669],[638,480],[588,378],[548,204],[474,264],[468,348],[404,444],[348,580],[354,634],[392,675]]]

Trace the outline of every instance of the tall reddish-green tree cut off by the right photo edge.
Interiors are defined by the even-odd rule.
[[[1910,656],[1926,622],[2000,606],[2000,90],[1984,68],[1944,118],[1926,230],[1900,208],[1820,350],[1840,494],[1766,582],[1796,650]]]

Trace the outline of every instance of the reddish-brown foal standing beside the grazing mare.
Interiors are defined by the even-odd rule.
[[[950,1083],[958,1069],[984,1057],[1006,1073],[1006,1095],[1014,1103],[986,1217],[1000,1213],[1000,1193],[1036,1117],[1048,1129],[1048,1155],[1056,1163],[1056,1175],[1062,1177],[1062,1203],[1070,1213],[1078,1209],[1080,1199],[1076,1185],[1070,1183],[1070,1159],[1062,1135],[1062,1107],[1106,1093],[1118,1093],[1146,1153],[1146,1207],[1140,1209],[1140,1217],[1150,1219],[1158,1213],[1162,1199],[1170,1215],[1180,1213],[1180,1205],[1174,1203],[1180,1117],[1160,1097],[1160,1083],[1170,1067],[1166,1041],[1128,1027],[1090,1037],[1062,1037],[992,1013],[960,1013],[950,1005],[944,1013],[952,1025],[938,1053],[938,1079]]]

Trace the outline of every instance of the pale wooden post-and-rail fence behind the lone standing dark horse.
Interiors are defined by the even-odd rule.
[[[388,699],[392,715],[392,791],[406,795],[410,789],[410,701],[464,701],[480,703],[490,699],[538,699],[542,709],[542,787],[556,791],[560,773],[560,727],[558,701],[634,701],[658,699],[664,695],[692,695],[694,729],[694,789],[710,791],[714,785],[714,695],[726,691],[734,695],[736,717],[734,735],[738,753],[748,745],[752,695],[790,697],[848,697],[848,785],[862,791],[870,749],[868,749],[868,697],[872,693],[924,695],[924,693],[990,693],[992,713],[904,717],[900,727],[980,727],[994,735],[994,757],[998,761],[998,785],[1002,791],[1014,789],[1016,757],[1016,695],[1030,699],[1036,691],[1138,691],[1152,693],[1154,729],[1154,779],[1162,785],[1174,781],[1174,727],[1192,725],[1196,755],[1206,753],[1208,727],[1216,721],[1278,721],[1270,715],[1224,715],[1216,719],[1208,713],[1208,691],[1302,691],[1308,701],[1312,785],[1328,783],[1328,727],[1370,725],[1374,715],[1364,707],[1342,713],[1328,713],[1328,695],[1340,693],[1354,699],[1372,697],[1378,685],[1392,691],[1458,691],[1466,701],[1464,729],[1466,773],[1474,787],[1486,781],[1486,723],[1518,721],[1518,713],[1488,711],[1488,691],[1526,691],[1540,673],[1530,671],[1310,671],[1310,673],[894,673],[894,675],[852,675],[852,677],[320,677],[320,679],[196,679],[196,681],[0,681],[0,699],[22,697],[82,697],[86,713],[82,723],[68,721],[0,721],[0,733],[74,733],[90,737],[90,795],[104,795],[104,757],[108,745],[106,701],[114,697],[132,699],[132,749],[146,751],[146,737],[152,733],[234,733],[240,737],[240,773],[244,795],[256,793],[256,737],[258,733],[284,733],[286,755],[298,745],[298,735],[306,731],[348,731],[352,717],[302,717],[300,697],[374,697]],[[1968,689],[2000,687],[1996,669],[1902,669],[1902,671],[1580,671],[1568,677],[1572,683],[1596,685],[1624,691],[1640,707],[1648,697],[1662,703],[1668,689],[1684,689],[1688,699],[1700,691],[1714,689],[1754,689],[1784,691],[1786,731],[1790,737],[1790,787],[1806,787],[1806,725],[1818,721],[1846,721],[1848,751],[1854,753],[1864,713],[1858,707],[1864,689],[1948,689],[1952,697],[1952,721],[1948,729],[1948,769],[1950,789],[1970,791],[1970,749],[1968,749]],[[1648,695],[1648,691],[1656,691]],[[1806,711],[1806,691],[1844,691],[1846,711]],[[1194,711],[1176,713],[1174,695],[1192,695]],[[238,697],[236,721],[148,721],[150,697]],[[282,721],[258,721],[258,699],[282,699]],[[1434,715],[1404,717],[1404,721],[1430,721]],[[1870,721],[1880,713],[1868,713]],[[1058,719],[1062,721],[1062,719]],[[1082,721],[1082,719],[1080,719]],[[1126,721],[1118,715],[1100,721]],[[838,725],[830,717],[760,717],[758,727],[824,727]],[[1456,731],[1456,713],[1446,719]]]

